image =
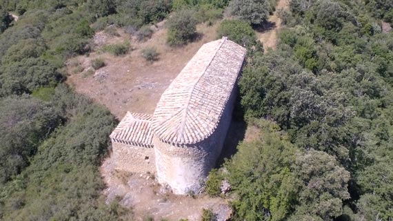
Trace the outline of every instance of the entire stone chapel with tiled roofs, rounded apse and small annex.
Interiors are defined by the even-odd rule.
[[[204,44],[153,115],[127,113],[110,135],[117,169],[157,173],[176,194],[199,193],[223,148],[245,53],[226,37]]]

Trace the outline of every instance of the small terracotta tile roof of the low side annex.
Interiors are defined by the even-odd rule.
[[[110,139],[112,142],[153,147],[152,115],[128,112],[114,129]]]

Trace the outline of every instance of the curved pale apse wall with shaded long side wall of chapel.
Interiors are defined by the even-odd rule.
[[[176,194],[201,191],[203,181],[215,166],[223,148],[232,119],[236,91],[234,87],[219,125],[206,140],[193,145],[173,146],[161,142],[158,137],[153,138],[157,178],[161,184],[168,184]]]

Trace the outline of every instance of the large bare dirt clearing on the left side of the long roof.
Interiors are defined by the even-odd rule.
[[[201,24],[197,27],[201,34],[199,40],[183,48],[170,48],[166,45],[166,30],[160,28],[151,39],[137,42],[123,30],[117,30],[119,36],[108,36],[105,32],[97,33],[94,41],[96,50],[89,56],[74,57],[68,61],[67,83],[78,93],[88,95],[99,104],[103,104],[119,119],[126,111],[153,113],[163,91],[177,77],[199,48],[216,39],[216,27]],[[132,52],[122,57],[115,57],[107,52],[99,52],[104,44],[130,41]],[[141,50],[154,47],[160,53],[159,60],[146,61],[141,57]],[[97,72],[92,69],[92,59],[101,58],[105,67]]]

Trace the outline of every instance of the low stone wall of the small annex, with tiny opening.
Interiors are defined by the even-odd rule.
[[[155,173],[154,148],[133,146],[119,142],[112,142],[112,154],[116,169],[131,173]]]

